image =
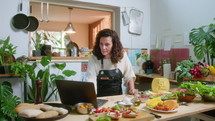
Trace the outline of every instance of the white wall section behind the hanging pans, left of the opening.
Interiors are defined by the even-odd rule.
[[[23,1],[23,12],[27,13],[28,1]],[[12,26],[12,18],[18,13],[20,0],[4,0],[0,4],[0,39],[10,36],[11,43],[17,47],[15,57],[28,54],[28,33],[23,30],[16,30]]]

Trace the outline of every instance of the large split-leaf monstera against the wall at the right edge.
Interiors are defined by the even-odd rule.
[[[215,18],[214,18],[215,20]],[[190,43],[194,46],[197,59],[207,58],[207,63],[213,65],[215,58],[215,24],[193,28],[189,34]]]

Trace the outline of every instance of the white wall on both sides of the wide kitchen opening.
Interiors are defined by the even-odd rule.
[[[23,1],[23,12],[28,13],[28,4],[29,0]],[[37,0],[35,0],[37,1]],[[70,0],[43,0],[49,2],[60,2],[62,4],[71,4]],[[114,7],[118,7],[121,11],[124,11],[124,7],[128,7],[126,10],[129,12],[129,9],[135,7],[144,12],[144,20],[142,25],[143,34],[140,36],[130,35],[128,33],[128,26],[124,26],[122,24],[121,13],[120,11],[116,12],[115,19],[117,23],[115,25],[115,30],[119,33],[121,41],[126,48],[149,48],[150,47],[150,0],[108,0],[108,1],[100,1],[100,0],[76,0],[78,2],[86,2],[93,4],[105,4]],[[29,36],[26,31],[16,30],[11,25],[11,18],[18,13],[18,4],[20,0],[7,0],[1,2],[0,5],[0,15],[2,16],[0,22],[0,39],[5,39],[8,35],[11,36],[11,42],[18,46],[17,54],[15,57],[21,55],[28,55],[28,40]],[[117,9],[116,9],[117,10]],[[7,12],[7,14],[5,14]],[[23,44],[24,43],[24,44]]]

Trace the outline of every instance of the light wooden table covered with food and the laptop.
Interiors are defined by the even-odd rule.
[[[109,100],[105,105],[102,107],[112,107],[115,105],[116,101],[122,100],[124,97],[132,98],[131,95],[119,95],[119,96],[109,96],[109,97],[102,97],[101,99]],[[145,103],[142,103],[139,109],[144,108]],[[166,121],[177,119],[185,116],[191,116],[194,114],[202,113],[205,111],[215,110],[215,104],[209,102],[202,102],[200,99],[195,99],[192,103],[188,103],[188,106],[180,106],[179,110],[174,113],[158,113],[162,116],[161,119],[154,119],[153,121]],[[76,112],[72,111],[68,116],[58,121],[89,121],[89,115],[79,115]]]

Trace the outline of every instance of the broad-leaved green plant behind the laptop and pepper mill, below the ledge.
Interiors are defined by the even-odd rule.
[[[28,85],[29,102],[34,102],[35,100],[37,79],[42,80],[42,100],[46,102],[51,98],[51,96],[57,96],[57,88],[55,84],[56,79],[64,79],[66,76],[70,77],[76,74],[73,70],[65,69],[65,62],[62,64],[54,63],[53,65],[50,65],[51,57],[51,55],[43,56],[39,63],[34,62],[33,64],[20,62],[12,63],[12,69],[15,74],[21,73],[25,80],[27,80],[25,76],[25,74],[27,74],[27,77],[31,80],[31,84]],[[57,74],[50,71],[51,66],[58,70]]]

